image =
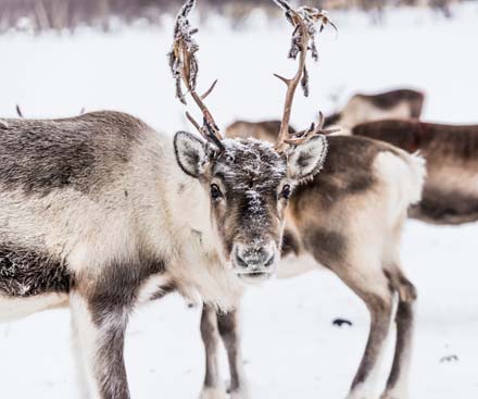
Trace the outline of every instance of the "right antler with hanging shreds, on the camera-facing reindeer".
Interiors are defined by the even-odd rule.
[[[307,51],[311,50],[312,58],[317,61],[318,52],[317,47],[315,45],[315,35],[317,33],[315,24],[320,21],[319,32],[324,29],[327,24],[330,24],[336,28],[336,26],[329,21],[327,13],[325,11],[318,11],[314,8],[301,7],[297,11],[291,8],[288,1],[286,0],[274,0],[279,7],[281,7],[286,12],[287,20],[294,27],[292,34],[292,45],[289,51],[289,58],[295,60],[299,57],[299,67],[295,75],[292,78],[286,78],[274,74],[277,78],[282,80],[287,85],[286,92],[286,101],[284,105],[284,115],[280,124],[280,130],[276,142],[276,150],[279,152],[284,152],[287,148],[287,145],[298,145],[306,141],[313,135],[318,134],[319,132],[324,132],[324,122],[322,119],[324,117],[320,113],[320,122],[315,127],[315,124],[312,124],[311,128],[299,134],[295,134],[295,138],[289,135],[289,122],[290,122],[290,113],[292,111],[293,97],[295,95],[295,89],[299,86],[299,83],[302,86],[304,91],[304,96],[309,96],[309,72],[306,68],[306,58]],[[337,29],[337,28],[336,28]]]

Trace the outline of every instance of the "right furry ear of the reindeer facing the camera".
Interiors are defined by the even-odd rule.
[[[327,157],[327,139],[322,135],[293,148],[288,158],[289,178],[301,183],[318,173]]]

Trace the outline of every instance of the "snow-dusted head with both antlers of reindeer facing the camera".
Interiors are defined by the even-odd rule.
[[[315,33],[311,30],[312,22],[318,20],[318,14],[313,14],[317,11],[311,9],[295,12],[284,1],[280,4],[295,29],[292,39],[295,52],[291,52],[291,57],[301,55],[297,75],[292,79],[280,78],[288,90],[275,146],[253,138],[224,139],[203,101],[215,83],[205,95],[196,92],[199,47],[192,39],[197,30],[190,27],[187,18],[194,0],[188,0],[177,16],[174,47],[169,53],[177,97],[186,103],[183,82],[203,114],[201,126],[186,113],[200,136],[177,133],[174,138],[176,159],[181,170],[197,178],[209,194],[212,227],[221,242],[222,255],[246,282],[274,274],[280,257],[288,200],[297,185],[318,173],[327,152],[326,138],[317,134],[319,129],[314,125],[293,137],[288,133],[295,88],[301,80],[306,87],[305,59]]]

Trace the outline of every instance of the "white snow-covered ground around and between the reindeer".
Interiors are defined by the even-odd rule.
[[[361,13],[337,15],[339,36],[320,39],[311,68],[312,95],[299,99],[292,122],[309,125],[319,109],[334,111],[356,90],[424,89],[425,119],[477,123],[478,4],[438,14],[403,10],[373,26]],[[332,15],[334,16],[334,15]],[[27,117],[89,110],[133,113],[172,134],[188,128],[166,67],[172,21],[163,28],[129,28],[104,36],[0,37],[0,112]],[[289,26],[254,15],[248,29],[211,18],[198,36],[200,86],[219,84],[209,102],[223,126],[237,117],[277,117],[291,73]],[[196,113],[196,110],[190,107]],[[478,226],[406,225],[403,258],[419,292],[413,358],[413,399],[478,398]],[[172,295],[138,311],[126,341],[134,399],[197,398],[204,354],[199,309]],[[353,327],[332,326],[345,317]],[[252,398],[344,398],[365,346],[365,306],[334,275],[309,275],[251,289],[244,300],[246,369]],[[390,353],[391,354],[391,351]],[[443,357],[457,360],[440,362]],[[226,374],[226,363],[224,362]],[[383,383],[388,370],[383,369]],[[0,325],[0,398],[75,397],[68,312],[55,310]]]

